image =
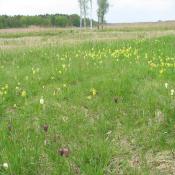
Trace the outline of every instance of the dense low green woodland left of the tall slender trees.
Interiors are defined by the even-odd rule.
[[[90,20],[87,20],[90,23]],[[79,27],[80,16],[73,15],[35,15],[35,16],[0,16],[0,28],[17,28],[29,26],[42,26],[42,27]]]

